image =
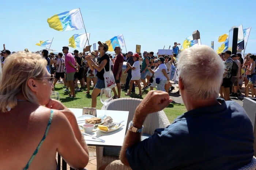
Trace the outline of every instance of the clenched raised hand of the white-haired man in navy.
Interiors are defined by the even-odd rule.
[[[151,90],[136,108],[135,114],[148,115],[163,110],[172,101],[167,92]]]

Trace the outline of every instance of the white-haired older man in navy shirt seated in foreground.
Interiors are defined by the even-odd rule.
[[[167,92],[148,92],[129,124],[120,160],[133,170],[239,169],[250,163],[252,123],[239,104],[217,99],[224,64],[216,52],[208,46],[188,48],[181,53],[177,70],[188,111],[140,141],[147,115],[172,102]]]

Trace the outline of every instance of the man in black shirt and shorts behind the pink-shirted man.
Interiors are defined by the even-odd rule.
[[[75,60],[76,62],[79,64],[79,71],[75,73],[75,79],[76,79],[76,85],[78,86],[77,82],[78,80],[80,81],[80,85],[81,85],[81,88],[84,86],[83,84],[83,72],[84,72],[84,69],[83,69],[83,60],[82,58],[78,55],[79,51],[78,50],[74,50],[74,57],[75,57]],[[77,87],[76,88],[76,91],[80,91],[80,88]]]

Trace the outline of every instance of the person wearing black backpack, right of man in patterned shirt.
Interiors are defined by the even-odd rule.
[[[237,60],[237,56],[235,54],[232,54],[230,56],[230,58],[232,60],[234,60],[234,62],[237,63],[237,66],[238,66],[238,71],[237,71],[237,75],[236,76],[232,76],[231,78],[231,82],[232,82],[232,92],[231,92],[231,96],[232,97],[237,97],[238,98],[238,95],[237,95],[237,90],[238,90],[238,80],[239,78],[242,78],[242,69],[241,69],[241,63],[239,60]]]

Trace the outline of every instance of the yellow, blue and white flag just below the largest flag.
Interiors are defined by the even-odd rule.
[[[74,34],[72,37],[69,38],[68,46],[72,48],[84,48],[84,46],[88,46],[89,39],[90,33],[87,33],[87,36],[86,33]]]

